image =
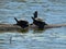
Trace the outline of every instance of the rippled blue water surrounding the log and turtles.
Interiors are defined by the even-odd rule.
[[[13,17],[32,23],[34,11],[47,24],[66,23],[66,0],[0,0],[0,23],[15,24]],[[0,32],[0,49],[66,49],[66,27]]]

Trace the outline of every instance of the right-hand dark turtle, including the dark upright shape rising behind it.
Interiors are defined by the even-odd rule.
[[[37,11],[35,11],[34,17],[32,17],[32,20],[33,24],[35,24],[38,28],[44,28],[44,26],[47,25],[42,19],[37,19]]]

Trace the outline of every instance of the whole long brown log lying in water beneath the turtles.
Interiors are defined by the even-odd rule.
[[[62,26],[66,26],[66,24],[50,24],[50,25],[45,25],[44,28],[56,28]],[[37,27],[34,25],[30,25],[28,28],[37,28]],[[23,28],[21,28],[15,24],[0,24],[0,30],[18,30],[18,29],[23,29]]]

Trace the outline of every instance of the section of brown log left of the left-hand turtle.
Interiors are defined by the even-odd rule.
[[[18,29],[21,29],[21,27],[14,24],[0,24],[0,30],[18,30]]]

